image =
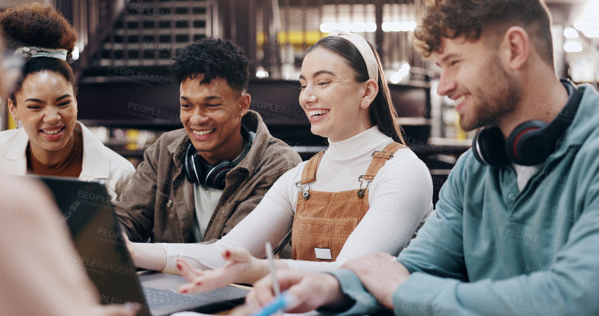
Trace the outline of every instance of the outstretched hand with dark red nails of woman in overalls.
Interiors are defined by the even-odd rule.
[[[181,293],[206,292],[229,283],[253,284],[270,273],[267,260],[260,260],[244,248],[223,251],[224,266],[214,270],[192,267],[183,258],[177,259],[181,275],[189,281],[179,287]]]

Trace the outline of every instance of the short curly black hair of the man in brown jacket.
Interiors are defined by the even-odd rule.
[[[204,79],[199,82],[200,85],[210,84],[212,79],[220,77],[233,91],[247,90],[249,62],[241,47],[230,40],[202,38],[180,49],[173,59],[175,62],[168,70],[179,82],[185,77],[195,79],[202,74]]]

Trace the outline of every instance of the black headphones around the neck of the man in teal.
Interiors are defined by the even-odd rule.
[[[552,122],[549,124],[540,120],[524,122],[510,133],[507,140],[504,140],[499,127],[483,128],[472,141],[474,158],[481,164],[492,167],[501,167],[510,162],[519,165],[537,165],[545,161],[555,151],[559,137],[573,121],[582,98],[582,92],[576,89],[570,80],[560,79],[559,81],[568,91],[569,97],[564,108]]]

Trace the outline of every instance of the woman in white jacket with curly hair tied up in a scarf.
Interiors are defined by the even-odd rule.
[[[77,122],[77,83],[66,62],[75,29],[52,5],[39,3],[1,12],[0,29],[6,49],[14,50],[7,64],[20,73],[7,87],[17,129],[0,133],[0,171],[102,179],[116,198],[135,169]]]

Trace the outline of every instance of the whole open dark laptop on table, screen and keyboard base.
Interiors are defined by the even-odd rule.
[[[141,285],[104,184],[61,177],[40,179],[54,194],[63,213],[62,221],[68,224],[79,252],[64,254],[62,264],[74,267],[83,264],[98,288],[99,293],[81,293],[83,302],[99,299],[102,304],[131,305],[143,316],[179,311],[209,313],[243,303],[248,290],[232,286],[208,293],[180,294],[173,289]]]

